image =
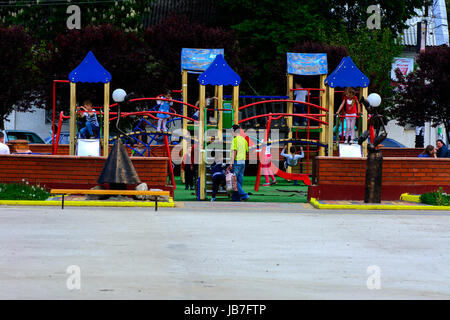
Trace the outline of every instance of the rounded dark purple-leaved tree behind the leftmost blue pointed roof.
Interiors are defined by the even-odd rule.
[[[89,51],[111,74],[112,90],[123,88],[137,95],[151,91],[151,75],[157,65],[142,39],[133,32],[125,33],[112,25],[88,26],[58,34],[51,44],[40,50],[41,104],[50,106],[52,81],[68,79],[69,73]],[[58,86],[58,100],[66,110],[68,91],[64,85]],[[91,99],[95,105],[103,105],[103,85],[78,84],[77,98],[81,103],[84,99]]]

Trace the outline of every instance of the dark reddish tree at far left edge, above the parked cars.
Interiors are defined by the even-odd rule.
[[[4,129],[6,117],[13,111],[26,111],[31,107],[35,94],[36,68],[33,63],[34,38],[22,27],[0,27],[0,129]],[[23,101],[27,93],[30,101]]]

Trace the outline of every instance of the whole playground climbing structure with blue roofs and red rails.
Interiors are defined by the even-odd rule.
[[[201,59],[199,59],[201,57]],[[122,112],[120,114],[121,117],[126,116],[137,116],[141,117],[139,123],[134,127],[133,131],[124,135],[118,135],[117,137],[109,137],[109,122],[115,120],[117,118],[116,112],[110,112],[110,109],[114,108],[116,104],[109,104],[109,83],[111,81],[111,76],[107,73],[106,70],[98,63],[93,54],[90,52],[83,62],[75,69],[69,76],[70,82],[70,116],[60,115],[60,124],[58,125],[58,131],[61,128],[61,121],[63,119],[70,119],[70,155],[75,155],[75,135],[76,135],[76,91],[75,84],[77,82],[103,82],[105,85],[104,89],[104,106],[102,110],[97,113],[100,115],[103,120],[103,131],[101,134],[102,138],[102,147],[103,147],[103,156],[108,155],[109,143],[114,139],[125,139],[125,144],[128,148],[132,149],[133,152],[137,152],[140,156],[150,156],[150,149],[154,145],[155,142],[160,141],[158,137],[162,137],[164,144],[164,149],[167,152],[167,156],[170,159],[170,147],[169,147],[169,139],[172,136],[172,132],[160,133],[156,132],[156,130],[146,130],[146,127],[150,126],[151,128],[156,129],[156,126],[152,121],[156,121],[157,113],[165,113],[172,117],[169,121],[175,122],[180,120],[181,122],[181,143],[183,155],[186,154],[189,142],[197,143],[196,157],[198,157],[198,173],[199,173],[199,181],[198,181],[198,199],[204,200],[207,196],[206,190],[206,163],[208,157],[208,143],[214,142],[217,146],[217,143],[220,146],[224,146],[227,142],[228,137],[224,137],[224,112],[231,113],[232,124],[240,124],[244,125],[245,123],[251,123],[251,121],[262,120],[261,124],[263,124],[263,128],[266,129],[265,139],[264,141],[268,141],[270,130],[273,129],[272,124],[278,120],[285,119],[286,127],[287,127],[287,137],[284,139],[279,139],[278,141],[273,141],[273,144],[287,144],[288,148],[292,144],[297,145],[305,145],[306,146],[306,174],[297,173],[293,174],[288,168],[287,172],[280,170],[272,164],[272,170],[277,175],[287,179],[287,180],[300,180],[303,181],[306,185],[311,184],[308,172],[309,172],[309,154],[310,147],[314,146],[318,149],[319,156],[323,156],[327,154],[328,156],[333,156],[333,146],[334,143],[339,143],[339,139],[334,139],[335,134],[333,132],[334,128],[334,96],[335,93],[339,93],[339,91],[335,92],[335,88],[337,87],[359,87],[360,88],[360,96],[367,96],[367,86],[369,81],[367,77],[365,77],[353,64],[350,57],[344,58],[338,68],[327,77],[327,59],[326,54],[296,54],[296,53],[288,53],[287,54],[287,96],[278,96],[274,97],[264,97],[265,99],[262,101],[252,102],[243,106],[239,106],[239,84],[241,82],[241,78],[237,75],[233,69],[227,64],[223,56],[223,49],[183,49],[182,51],[182,68],[181,68],[181,78],[182,78],[182,89],[179,90],[182,96],[182,101],[175,99],[165,99],[161,97],[155,98],[137,98],[129,100],[129,103],[139,102],[139,101],[155,101],[162,100],[173,103],[178,103],[181,105],[181,113],[176,113],[176,111],[172,108],[171,112],[160,112],[153,108],[148,111],[137,111],[137,112]],[[83,78],[80,77],[83,72],[89,70],[92,73],[92,70],[95,70],[95,74],[97,74],[97,78]],[[198,106],[188,103],[188,74],[200,74],[198,76],[199,83],[199,98],[198,98]],[[294,76],[319,76],[319,86],[318,88],[294,88]],[[55,82],[66,82],[67,80],[56,80]],[[217,96],[217,107],[213,108],[214,117],[217,120],[215,125],[209,125],[207,123],[206,115],[207,115],[207,106],[206,106],[206,86],[214,86],[214,95]],[[232,96],[231,96],[231,109],[227,109],[224,107],[224,86],[232,86]],[[54,83],[55,87],[55,83]],[[307,91],[307,101],[299,102],[294,100],[293,95],[295,90],[305,90]],[[318,97],[315,97],[319,100],[318,104],[311,103],[311,92],[318,93]],[[245,96],[244,96],[245,97]],[[267,100],[268,98],[268,100]],[[252,116],[242,118],[241,114],[247,108],[260,108],[262,105],[267,104],[285,104],[286,112],[269,112],[269,113],[257,113]],[[305,109],[307,110],[305,113],[295,113],[294,112],[294,104],[303,104]],[[188,108],[192,108],[193,110],[198,110],[199,117],[198,119],[194,119],[189,116]],[[283,111],[283,110],[281,110]],[[363,110],[363,130],[365,130],[364,125],[367,123],[367,112]],[[111,117],[110,117],[111,116]],[[55,117],[55,116],[54,116]],[[294,117],[302,117],[306,119],[306,126],[294,126],[293,118]],[[192,125],[189,126],[189,123]],[[54,124],[55,125],[55,121]],[[196,134],[194,136],[197,140],[192,139],[189,141],[187,137],[190,137],[189,130],[194,130]],[[216,129],[217,136],[213,140],[207,139],[206,132],[208,129]],[[313,139],[311,136],[311,129],[316,129],[316,132],[319,133],[318,138]],[[306,135],[306,137],[299,137],[299,134],[302,133]],[[295,136],[294,136],[295,134]],[[145,139],[142,137],[146,136]],[[255,145],[250,137],[246,137],[249,141],[250,145]],[[128,143],[128,140],[131,143]],[[144,141],[145,140],[145,141]],[[336,141],[334,141],[336,140]],[[54,147],[53,153],[57,152],[57,143],[58,138],[54,139]],[[135,143],[140,143],[144,145],[144,150],[136,150]],[[256,141],[256,145],[258,145],[260,141]],[[161,144],[161,143],[159,143]],[[225,149],[224,147],[223,149]],[[265,150],[265,146],[262,146],[262,150]],[[220,148],[219,148],[220,149]],[[222,150],[223,151],[223,150]],[[262,153],[261,153],[262,154]],[[171,161],[171,159],[170,159]],[[170,176],[172,180],[172,184],[175,188],[173,169],[170,168]],[[183,177],[183,172],[181,173]],[[257,171],[257,180],[255,182],[255,190],[259,188],[259,177],[261,174],[261,162],[258,162],[258,171]]]

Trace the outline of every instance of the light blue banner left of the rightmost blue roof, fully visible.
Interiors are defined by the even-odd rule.
[[[288,74],[314,76],[328,74],[326,53],[291,53],[287,56]]]

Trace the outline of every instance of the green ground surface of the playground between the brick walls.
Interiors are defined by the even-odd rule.
[[[261,177],[261,184],[259,191],[254,190],[256,177],[244,177],[244,191],[250,195],[248,202],[290,202],[290,203],[305,203],[308,192],[308,187],[303,182],[288,182],[280,177],[277,177],[277,184],[270,187],[263,187],[265,182],[264,176]],[[180,177],[175,177],[177,189],[175,190],[175,201],[197,201],[195,190],[185,190],[184,184]],[[211,197],[208,196],[208,200]],[[216,201],[231,201],[227,197],[217,196]]]

